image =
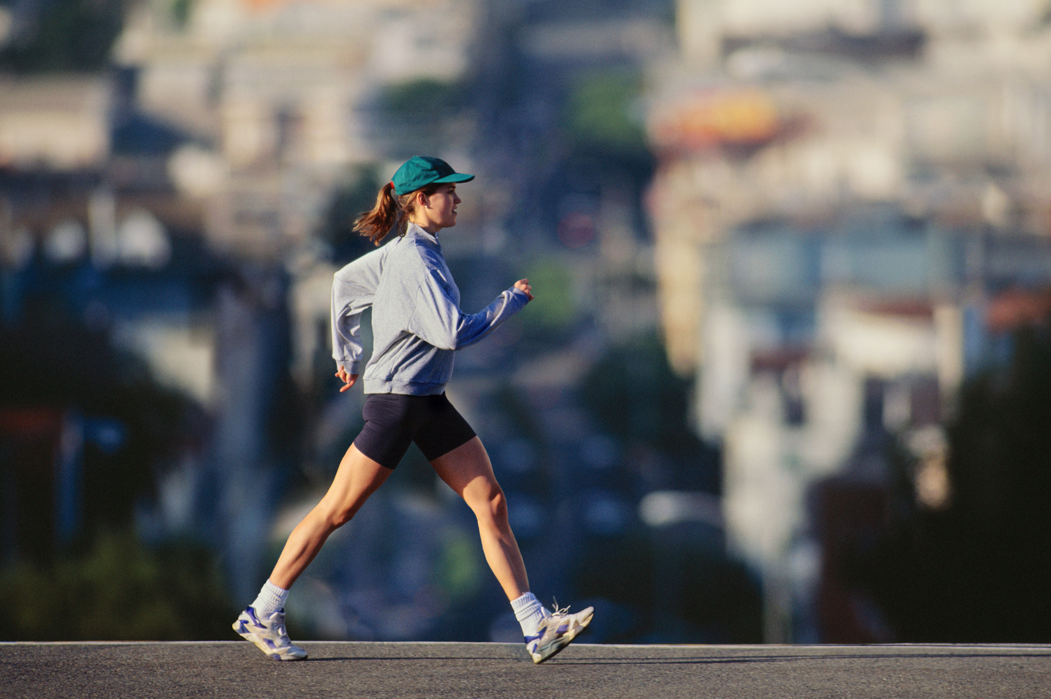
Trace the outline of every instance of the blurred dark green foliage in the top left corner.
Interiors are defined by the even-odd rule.
[[[43,7],[32,29],[0,52],[0,68],[82,73],[108,63],[124,21],[121,0],[57,0]]]

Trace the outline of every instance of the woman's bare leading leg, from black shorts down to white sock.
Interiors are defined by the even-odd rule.
[[[508,523],[508,503],[503,491],[493,475],[493,465],[474,437],[448,454],[431,461],[438,476],[462,497],[478,518],[481,550],[486,562],[503,588],[508,599],[518,599],[529,592],[526,563],[518,551],[518,542]],[[274,580],[274,584],[277,581]]]

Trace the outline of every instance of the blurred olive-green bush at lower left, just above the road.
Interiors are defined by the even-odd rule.
[[[235,612],[202,546],[154,550],[106,533],[80,555],[0,572],[8,614],[0,640],[207,640],[231,638]]]

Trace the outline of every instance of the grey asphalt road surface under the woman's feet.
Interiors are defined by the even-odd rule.
[[[504,643],[0,643],[0,696],[1051,697],[1051,645],[586,645],[542,665]]]

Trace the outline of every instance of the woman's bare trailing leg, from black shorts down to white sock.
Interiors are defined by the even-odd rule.
[[[325,497],[289,535],[270,574],[270,582],[285,590],[291,588],[322,550],[329,534],[350,521],[365,500],[393,472],[393,469],[373,461],[351,445],[339,461],[339,469]]]

